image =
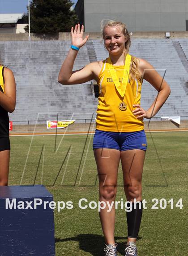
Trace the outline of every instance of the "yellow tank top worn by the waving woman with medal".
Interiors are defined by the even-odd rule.
[[[131,58],[130,58],[131,59]],[[122,97],[118,93],[112,80],[111,73],[107,69],[109,58],[103,61],[103,67],[98,76],[99,97],[96,117],[96,129],[113,132],[132,132],[144,129],[144,123],[138,120],[132,113],[134,104],[140,104],[141,82],[129,81],[124,95],[124,102],[127,105],[125,111],[119,109]],[[129,63],[130,66],[130,63]],[[123,80],[124,66],[113,66],[120,85]]]

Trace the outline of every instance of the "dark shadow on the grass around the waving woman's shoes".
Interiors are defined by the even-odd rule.
[[[120,255],[124,255],[124,249],[125,249],[125,242],[127,237],[115,237],[115,242],[118,243],[118,253]],[[141,239],[141,237],[137,238],[138,240]],[[118,240],[124,240],[124,242],[118,242]],[[72,238],[55,238],[56,243],[60,242],[68,242],[68,241],[76,241],[79,243],[80,250],[84,252],[89,252],[93,256],[103,256],[104,255],[104,237],[97,234],[79,234]]]

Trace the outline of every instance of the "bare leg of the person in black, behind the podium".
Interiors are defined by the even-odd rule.
[[[0,151],[0,186],[8,185],[10,150]]]

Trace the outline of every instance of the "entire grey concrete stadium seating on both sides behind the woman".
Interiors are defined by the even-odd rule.
[[[187,53],[187,39],[179,39]],[[74,70],[90,62],[107,58],[107,51],[100,40],[90,40],[78,53]],[[83,85],[60,85],[57,77],[70,41],[36,40],[4,41],[0,43],[0,58],[11,68],[17,82],[17,107],[10,114],[12,121],[51,119],[58,112],[59,119],[90,119],[97,108],[97,99],[90,89],[90,82]],[[93,45],[93,46],[92,46]],[[92,50],[93,47],[93,50]],[[89,56],[90,54],[90,56]],[[161,116],[188,116],[188,96],[184,84],[187,72],[173,45],[172,39],[133,38],[130,54],[150,62],[171,86],[171,96],[158,112]],[[141,105],[149,108],[157,91],[146,81],[142,85]],[[38,116],[38,112],[45,113]],[[47,114],[54,113],[54,114]],[[73,114],[74,113],[74,114]]]

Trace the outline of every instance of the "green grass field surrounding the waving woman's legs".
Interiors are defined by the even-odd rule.
[[[143,211],[137,241],[139,256],[186,255],[187,132],[147,133],[143,173]],[[9,185],[43,184],[54,201],[72,201],[73,209],[54,210],[56,256],[103,256],[104,238],[97,209],[80,209],[78,202],[98,201],[98,180],[92,150],[93,135],[11,136]],[[56,152],[55,152],[56,148]],[[116,201],[124,198],[119,170]],[[153,198],[167,207],[151,209]],[[173,198],[173,209],[168,201]],[[183,209],[175,207],[182,198]],[[163,203],[162,207],[163,207]],[[126,213],[116,210],[115,240],[124,255]]]

